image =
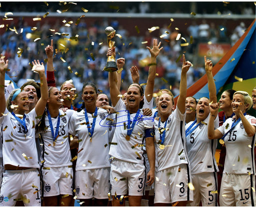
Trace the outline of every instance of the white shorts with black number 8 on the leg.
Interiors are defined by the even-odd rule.
[[[192,201],[193,191],[188,188],[191,175],[188,164],[179,164],[156,172],[154,203]]]

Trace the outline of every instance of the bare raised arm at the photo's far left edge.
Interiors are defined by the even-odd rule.
[[[4,96],[4,78],[5,69],[8,67],[8,60],[4,61],[4,56],[0,55],[0,117],[5,110],[5,96]]]

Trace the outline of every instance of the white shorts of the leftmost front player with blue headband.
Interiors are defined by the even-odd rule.
[[[3,173],[0,206],[14,206],[17,199],[22,199],[25,206],[41,206],[40,177],[36,168]]]

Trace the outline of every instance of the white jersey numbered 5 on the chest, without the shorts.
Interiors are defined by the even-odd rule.
[[[186,136],[191,174],[218,171],[215,159],[217,139],[209,139],[207,135],[207,123],[209,122],[209,116],[210,114],[208,114],[203,122]],[[188,122],[185,125],[185,128],[187,129],[192,123],[193,121]],[[190,129],[194,126],[196,126],[196,123],[194,123]],[[214,119],[214,127],[218,127],[218,116]]]

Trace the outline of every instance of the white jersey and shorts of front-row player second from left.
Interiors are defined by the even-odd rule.
[[[56,118],[51,117],[54,134],[59,119],[58,134],[54,141],[48,116],[45,115],[46,132],[40,133],[43,144],[40,158],[43,196],[72,195],[73,172],[68,140],[68,121],[73,112],[70,109],[65,112],[59,109],[59,115]]]

